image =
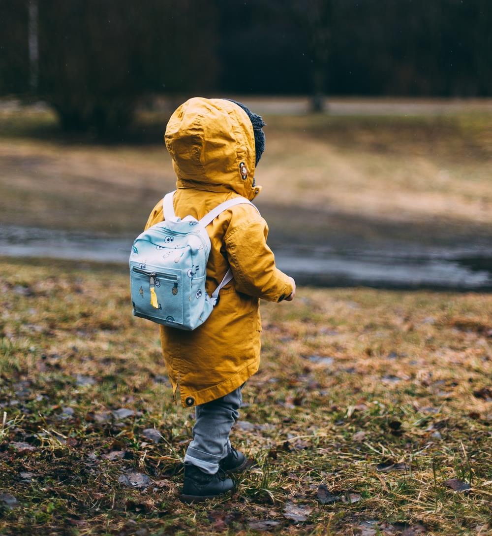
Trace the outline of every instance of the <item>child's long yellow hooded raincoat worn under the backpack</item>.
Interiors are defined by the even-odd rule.
[[[171,116],[165,143],[178,177],[176,215],[200,219],[227,199],[253,199],[255,147],[246,112],[223,99],[196,97]],[[243,164],[247,175],[241,173]],[[146,229],[165,219],[162,202]],[[162,352],[173,393],[194,406],[237,389],[260,364],[259,298],[281,301],[292,292],[266,243],[267,222],[251,205],[236,205],[207,227],[211,250],[206,289],[211,294],[229,266],[234,279],[219,293],[208,319],[194,331],[160,326]]]

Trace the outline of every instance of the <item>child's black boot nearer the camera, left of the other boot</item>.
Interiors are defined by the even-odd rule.
[[[185,464],[185,482],[179,498],[184,502],[201,502],[233,488],[234,482],[221,469],[209,474],[193,464]]]

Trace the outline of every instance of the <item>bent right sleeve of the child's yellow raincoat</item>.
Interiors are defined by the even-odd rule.
[[[289,296],[293,287],[289,277],[275,266],[267,235],[267,222],[255,218],[226,233],[225,249],[237,291],[278,302]]]

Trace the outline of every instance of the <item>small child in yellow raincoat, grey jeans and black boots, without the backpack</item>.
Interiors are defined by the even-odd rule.
[[[176,215],[200,219],[227,199],[251,200],[261,190],[255,167],[264,149],[264,123],[243,104],[196,97],[171,116],[165,143],[177,175]],[[159,202],[146,229],[165,220]],[[224,211],[207,227],[211,249],[206,289],[210,295],[231,267],[234,278],[219,293],[210,317],[194,331],[160,326],[173,396],[195,406],[193,441],[185,456],[181,499],[201,501],[228,492],[228,473],[243,471],[245,456],[229,441],[238,419],[241,389],[260,364],[259,298],[292,300],[294,280],[275,266],[266,243],[267,222],[251,204]],[[205,275],[205,274],[203,274]],[[196,277],[200,277],[198,274]]]

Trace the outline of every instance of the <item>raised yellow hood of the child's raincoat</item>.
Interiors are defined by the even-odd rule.
[[[188,99],[172,114],[164,136],[178,188],[229,192],[253,199],[255,142],[246,112],[225,99]]]

